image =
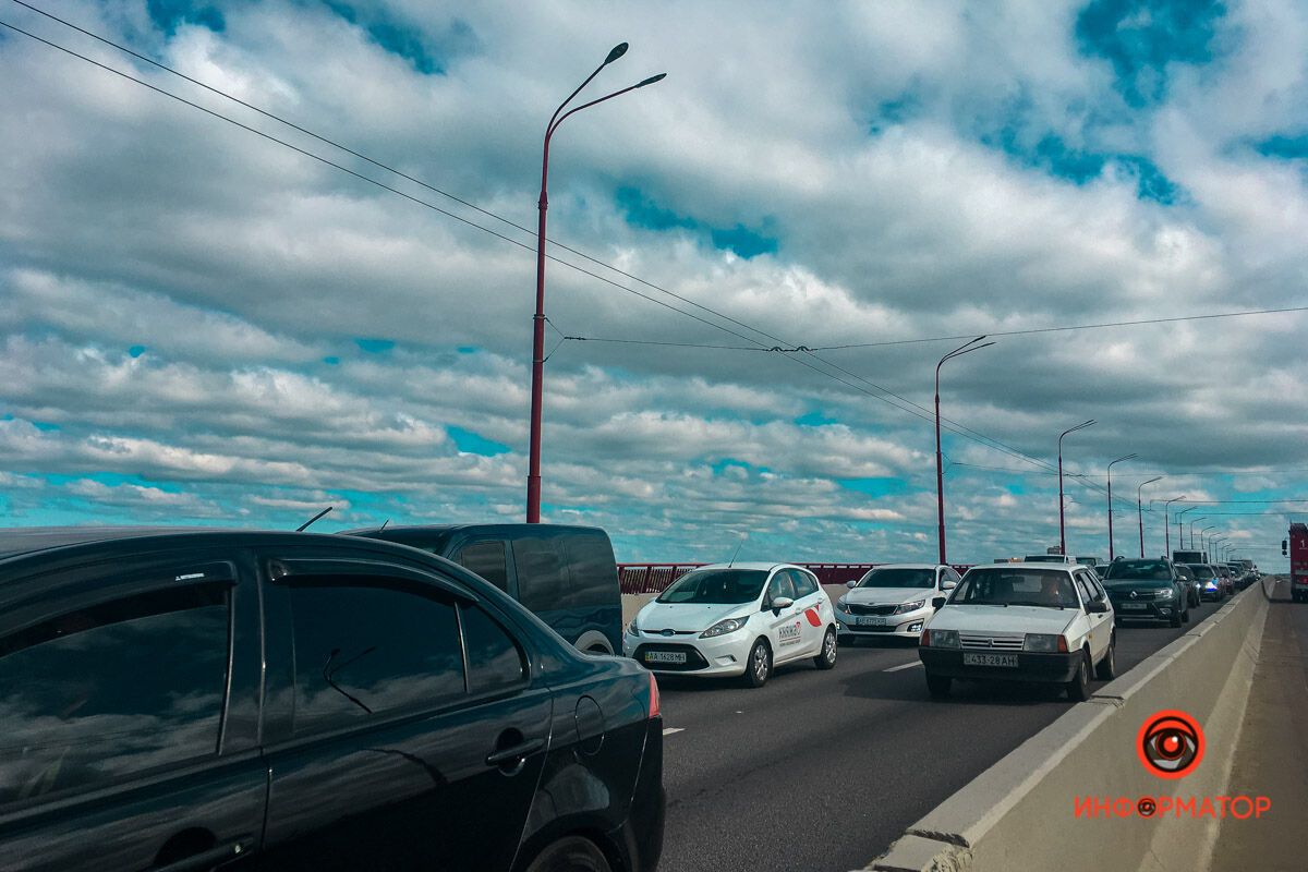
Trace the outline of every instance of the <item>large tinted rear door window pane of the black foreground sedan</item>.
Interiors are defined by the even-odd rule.
[[[454,601],[395,579],[297,579],[294,732],[366,723],[463,697]]]

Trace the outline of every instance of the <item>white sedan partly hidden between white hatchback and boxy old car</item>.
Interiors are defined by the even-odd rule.
[[[935,613],[931,600],[948,594],[959,574],[939,563],[887,563],[849,583],[836,600],[836,629],[841,642],[896,637],[917,641]]]

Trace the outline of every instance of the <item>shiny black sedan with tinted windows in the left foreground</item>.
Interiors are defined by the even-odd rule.
[[[0,532],[0,686],[7,872],[644,872],[662,850],[653,676],[388,543]]]

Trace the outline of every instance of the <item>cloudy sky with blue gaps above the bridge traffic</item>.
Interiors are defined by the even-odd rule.
[[[0,27],[3,526],[521,520],[542,136],[623,41],[583,95],[667,78],[551,154],[547,520],[930,558],[980,333],[952,561],[1057,544],[1087,418],[1070,552],[1127,454],[1120,552],[1159,475],[1265,567],[1308,518],[1308,312],[1022,332],[1308,306],[1301,3],[31,5],[249,106],[0,0],[195,103]]]

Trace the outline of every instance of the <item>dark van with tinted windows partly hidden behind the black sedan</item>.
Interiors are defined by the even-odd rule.
[[[623,596],[608,533],[564,524],[425,524],[352,529],[445,557],[487,579],[591,654],[623,650]]]

